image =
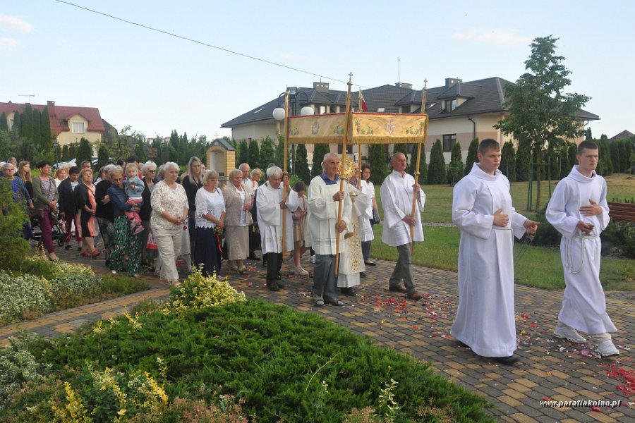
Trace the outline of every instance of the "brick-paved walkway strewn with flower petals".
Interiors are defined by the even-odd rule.
[[[76,252],[63,252],[63,259],[84,262],[105,272],[104,260],[78,257]],[[602,360],[594,353],[592,343],[575,345],[550,335],[560,310],[562,293],[516,286],[518,355],[521,363],[505,367],[476,357],[468,348],[459,346],[449,336],[456,313],[458,295],[456,273],[415,266],[416,284],[425,298],[406,300],[387,290],[392,262],[378,262],[367,269],[368,278],[358,288],[358,296],[344,297],[345,307],[313,307],[310,301],[312,280],[291,276],[286,290],[267,290],[265,268],[259,262],[248,262],[244,275],[231,274],[230,282],[248,298],[261,298],[299,311],[320,314],[325,319],[345,326],[378,345],[410,354],[431,362],[433,368],[495,405],[492,415],[502,422],[633,422],[635,420],[635,310],[633,293],[610,293],[607,309],[619,329],[615,345],[622,355],[618,360]],[[291,269],[285,262],[284,269]],[[310,269],[310,264],[306,264]],[[21,324],[0,328],[0,345],[15,335],[18,328],[59,336],[86,321],[120,314],[140,300],[160,300],[168,289],[147,277],[152,289],[124,298],[87,305]],[[494,305],[492,305],[493,307]],[[621,400],[622,405],[591,407],[541,407],[540,401]],[[629,405],[630,402],[630,405]]]

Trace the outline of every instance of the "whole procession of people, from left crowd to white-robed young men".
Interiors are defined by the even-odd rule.
[[[452,336],[474,353],[502,364],[514,364],[514,236],[534,234],[538,222],[517,213],[509,181],[498,170],[500,144],[483,140],[478,163],[454,187],[452,221],[461,231],[459,245],[459,305]],[[557,185],[547,207],[547,219],[562,233],[564,291],[554,336],[586,342],[578,331],[599,343],[603,356],[617,355],[610,332],[617,329],[606,313],[599,281],[600,232],[609,221],[606,184],[595,174],[598,147],[582,142],[579,165]],[[40,249],[58,260],[52,227],[63,227],[63,244],[73,250],[75,235],[80,255],[102,252],[113,274],[140,276],[142,266],[173,286],[179,286],[177,259],[211,276],[227,271],[244,274],[246,260],[267,267],[265,281],[272,291],[284,289],[282,264],[293,260],[293,272],[309,276],[301,258],[310,252],[313,263],[313,304],[343,306],[342,295],[355,296],[366,276],[373,224],[382,224],[382,243],[397,249],[397,262],[388,290],[420,300],[413,275],[412,256],[421,243],[421,214],[425,192],[406,173],[406,156],[392,157],[392,173],[380,188],[383,220],[370,182],[368,164],[340,180],[340,159],[327,153],[322,173],[308,187],[270,164],[263,172],[241,164],[229,172],[226,183],[219,173],[206,170],[192,157],[185,173],[167,162],[140,164],[136,157],[109,164],[93,179],[90,163],[63,166],[52,176],[48,161],[40,161],[38,176],[28,161],[11,157],[0,164],[13,184],[13,196],[40,226]],[[360,172],[361,170],[361,172]],[[17,176],[16,176],[17,171]],[[265,182],[261,182],[265,176]],[[23,236],[33,237],[30,224]],[[98,250],[97,240],[104,247]],[[192,264],[193,259],[193,264]]]

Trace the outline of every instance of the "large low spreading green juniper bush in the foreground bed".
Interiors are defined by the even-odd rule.
[[[100,407],[104,421],[122,408],[113,380],[123,391],[139,374],[156,381],[169,398],[167,409],[146,421],[183,419],[174,409],[176,398],[211,407],[231,397],[243,410],[236,415],[259,422],[360,421],[353,409],[367,407],[394,421],[489,419],[483,398],[434,374],[428,364],[378,348],[316,314],[260,300],[182,314],[126,314],[42,341],[32,354],[52,365],[52,377],[72,387],[66,403],[75,398],[90,413]],[[87,366],[87,360],[94,364]],[[103,390],[95,388],[96,374],[108,380]],[[20,398],[28,395],[22,391]],[[37,402],[40,396],[30,398],[35,410],[49,406],[48,400]],[[0,415],[17,415],[23,403],[12,398]],[[133,412],[126,418],[135,418]]]

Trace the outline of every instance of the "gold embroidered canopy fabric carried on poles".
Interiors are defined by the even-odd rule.
[[[351,113],[349,144],[414,144],[425,142],[428,115]],[[346,114],[289,117],[291,144],[341,144]]]

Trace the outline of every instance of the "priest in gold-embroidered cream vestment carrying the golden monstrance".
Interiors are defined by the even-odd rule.
[[[361,250],[361,230],[363,228],[364,220],[366,219],[366,209],[368,209],[368,195],[361,190],[358,190],[356,183],[358,183],[359,171],[357,166],[355,168],[355,174],[349,181],[349,192],[351,192],[351,225],[353,230],[344,235],[344,251],[341,253],[339,259],[339,272],[337,273],[337,288],[344,295],[354,297],[357,295],[353,286],[359,285],[360,276],[365,276],[364,271],[364,257]]]

